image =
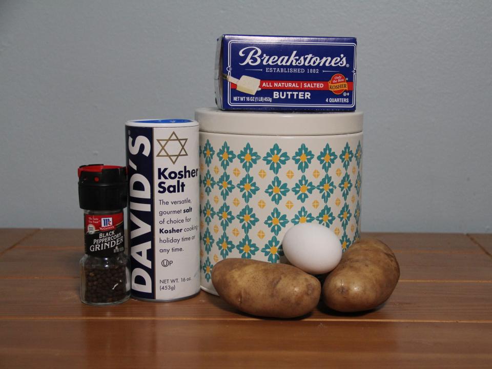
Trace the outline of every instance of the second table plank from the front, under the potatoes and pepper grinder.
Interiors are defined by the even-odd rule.
[[[99,308],[79,300],[78,279],[1,279],[0,318],[64,317],[256,320],[217,296],[154,303],[130,300]],[[307,320],[482,321],[492,323],[492,283],[400,282],[379,309],[339,314],[318,306]]]

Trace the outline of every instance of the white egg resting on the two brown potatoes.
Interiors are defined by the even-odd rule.
[[[342,258],[337,235],[321,224],[296,224],[285,233],[282,248],[293,265],[311,274],[332,271]]]

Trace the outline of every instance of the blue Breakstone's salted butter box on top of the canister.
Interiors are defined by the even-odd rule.
[[[217,40],[223,110],[354,111],[354,37],[227,35]]]

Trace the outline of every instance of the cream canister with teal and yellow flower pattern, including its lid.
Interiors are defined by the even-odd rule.
[[[283,262],[294,224],[360,237],[362,113],[198,109],[201,288],[219,260]]]

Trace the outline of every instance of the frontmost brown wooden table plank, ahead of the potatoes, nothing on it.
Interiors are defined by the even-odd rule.
[[[281,334],[279,334],[281,333]],[[492,324],[2,321],[3,367],[489,368]]]

